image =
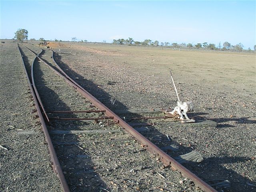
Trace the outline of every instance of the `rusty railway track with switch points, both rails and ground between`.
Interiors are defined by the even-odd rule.
[[[186,191],[216,191],[164,152],[163,142],[162,149],[159,148],[161,144],[156,145],[163,138],[148,132],[145,125],[154,123],[150,119],[158,114],[150,113],[150,118],[145,118],[139,111],[136,113],[140,117],[136,118],[138,115],[128,116],[124,115],[125,111],[120,111],[120,116],[126,117],[121,118],[60,68],[55,61],[58,60],[56,52],[22,44],[18,48],[36,106],[33,112],[40,118],[53,169],[65,192],[179,191],[179,184],[186,181],[192,181],[188,182]],[[139,119],[148,122],[138,122]],[[144,127],[132,128],[128,121],[134,127]],[[150,140],[156,141],[155,144]],[[168,136],[165,145],[170,146]],[[162,163],[158,164],[160,161]],[[122,174],[126,172],[136,182]]]

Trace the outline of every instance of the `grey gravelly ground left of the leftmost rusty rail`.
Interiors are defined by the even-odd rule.
[[[17,44],[5,40],[1,50],[0,191],[59,192]]]

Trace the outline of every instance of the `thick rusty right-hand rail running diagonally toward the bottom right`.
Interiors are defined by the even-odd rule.
[[[200,179],[198,176],[196,176],[195,174],[190,172],[190,170],[188,170],[187,168],[182,166],[180,163],[178,163],[176,160],[174,160],[172,157],[170,157],[168,154],[166,154],[164,151],[162,151],[160,148],[158,148],[155,144],[153,144],[147,138],[142,136],[142,134],[140,134],[138,131],[136,131],[134,128],[132,128],[129,124],[127,124],[124,120],[122,120],[122,118],[120,118],[118,115],[116,115],[114,112],[112,112],[109,108],[107,108],[104,104],[102,104],[99,100],[97,100],[94,96],[92,96],[92,94],[90,94],[88,91],[86,91],[84,88],[82,88],[82,86],[77,84],[72,78],[70,78],[60,68],[60,66],[58,66],[58,64],[54,60],[54,54],[53,53],[54,52],[52,51],[52,59],[53,59],[54,63],[56,64],[57,68],[64,75],[61,74],[60,72],[58,72],[57,70],[55,70],[52,66],[50,66],[46,62],[44,62],[39,56],[38,56],[38,58],[42,62],[44,62],[44,64],[46,64],[49,68],[51,68],[54,72],[56,72],[56,74],[58,74],[59,76],[64,78],[66,80],[66,82],[68,84],[70,84],[71,86],[73,86],[78,92],[80,92],[80,94],[82,94],[85,98],[90,100],[90,102],[92,102],[97,108],[99,108],[100,110],[106,110],[105,114],[107,116],[113,116],[114,121],[116,123],[118,123],[122,128],[124,128],[126,130],[126,132],[128,132],[129,134],[134,136],[134,138],[136,138],[136,140],[138,140],[144,148],[146,148],[152,154],[158,155],[160,157],[160,160],[163,162],[163,164],[165,166],[171,166],[173,169],[178,170],[179,172],[181,172],[181,174],[183,176],[192,180],[194,182],[194,184],[196,186],[200,187],[202,190],[204,190],[206,192],[217,192],[209,184],[207,184],[202,179]]]

